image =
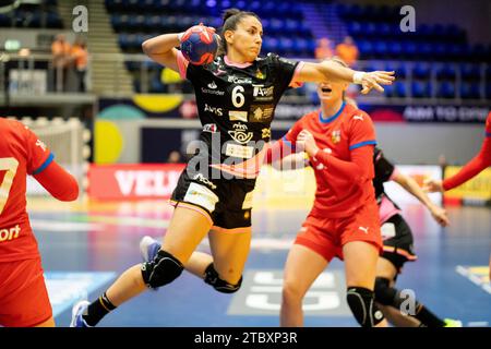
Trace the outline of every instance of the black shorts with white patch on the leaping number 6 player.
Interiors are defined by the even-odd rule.
[[[179,205],[207,214],[215,229],[251,227],[252,193],[255,179],[208,179],[208,176],[184,169],[170,198]]]

